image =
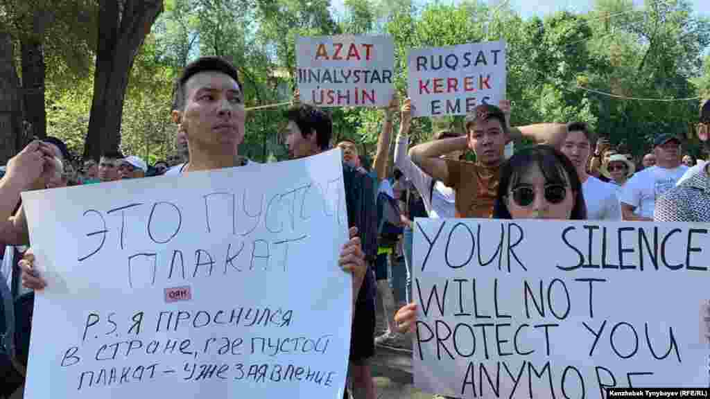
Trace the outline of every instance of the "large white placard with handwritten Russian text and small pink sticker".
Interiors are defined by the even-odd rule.
[[[26,192],[23,204],[48,282],[25,398],[342,397],[339,150]]]

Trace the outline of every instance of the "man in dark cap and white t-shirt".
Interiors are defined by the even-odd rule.
[[[669,133],[660,134],[653,141],[656,165],[645,168],[631,177],[621,194],[624,220],[653,221],[657,198],[675,187],[688,170],[680,162],[681,141]]]

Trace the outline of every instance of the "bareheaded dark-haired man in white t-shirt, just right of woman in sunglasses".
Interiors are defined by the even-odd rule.
[[[567,137],[564,138],[560,151],[567,155],[574,168],[577,168],[586,203],[587,219],[621,220],[621,209],[614,187],[589,175],[586,171],[593,141],[586,124],[572,122],[567,125]]]

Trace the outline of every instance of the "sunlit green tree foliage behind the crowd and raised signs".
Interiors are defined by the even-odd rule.
[[[84,1],[79,9],[95,7],[94,1]],[[3,3],[10,11],[23,4],[0,0],[0,7]],[[63,6],[58,9],[64,10],[59,15],[79,15],[67,8],[71,3],[59,1]],[[623,141],[639,154],[657,133],[687,131],[697,119],[698,102],[641,102],[588,89],[621,97],[710,96],[710,55],[706,50],[710,22],[695,15],[686,0],[648,0],[643,7],[634,6],[631,0],[598,0],[586,14],[559,12],[529,20],[520,18],[509,6],[490,8],[487,2],[471,0],[423,6],[415,6],[411,0],[346,0],[339,16],[330,6],[329,0],[165,1],[165,12],[153,26],[131,73],[121,127],[124,152],[143,157],[147,153],[153,162],[172,151],[172,82],[182,67],[199,55],[221,55],[234,62],[243,80],[247,106],[288,101],[295,89],[297,35],[391,35],[395,41],[395,87],[401,99],[407,93],[406,62],[411,48],[505,40],[506,93],[513,104],[514,126],[586,121],[612,143]],[[48,133],[65,138],[77,150],[87,129],[92,67],[89,62],[82,70],[82,58],[57,58],[60,52],[55,49],[71,47],[72,38],[86,36],[81,29],[50,28],[51,37],[46,41],[52,43],[47,56]],[[55,32],[67,30],[75,33],[53,37]],[[77,43],[90,58],[95,44],[91,40]],[[260,161],[285,158],[278,138],[283,109],[249,113],[241,153]],[[382,111],[357,108],[329,112],[334,142],[351,138],[372,156]],[[461,117],[415,119],[413,142],[428,140],[440,129],[462,133],[461,121]]]

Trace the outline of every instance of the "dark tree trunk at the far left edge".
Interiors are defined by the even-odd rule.
[[[22,108],[20,81],[9,33],[0,32],[0,164],[21,150]],[[44,106],[42,107],[44,109]]]

